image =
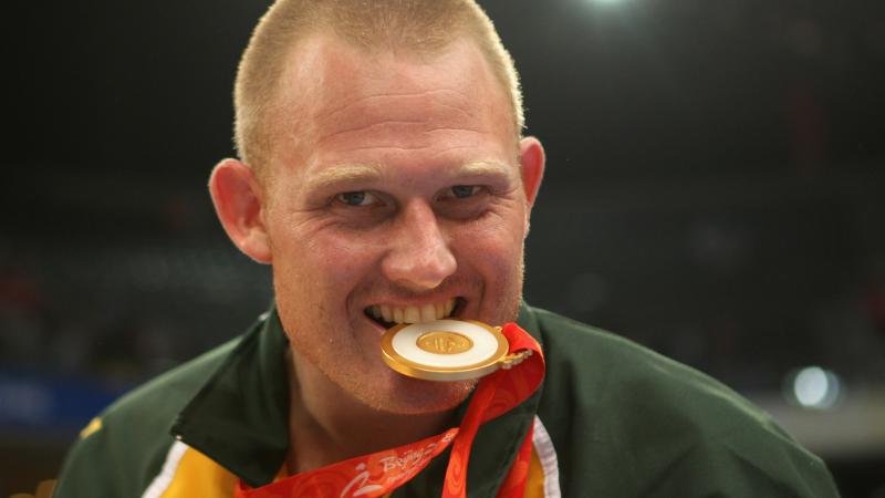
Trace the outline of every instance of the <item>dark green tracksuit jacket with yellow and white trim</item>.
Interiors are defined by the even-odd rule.
[[[707,375],[528,305],[519,323],[541,343],[546,376],[480,428],[469,496],[494,496],[530,424],[531,497],[837,496],[818,457]],[[242,336],[124,396],[84,429],[55,496],[215,498],[231,497],[237,478],[272,481],[289,440],[287,347],[271,310]],[[393,496],[439,496],[447,456]]]

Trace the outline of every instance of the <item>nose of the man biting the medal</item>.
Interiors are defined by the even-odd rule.
[[[409,290],[434,289],[458,268],[436,214],[424,200],[403,207],[389,243],[382,271]]]

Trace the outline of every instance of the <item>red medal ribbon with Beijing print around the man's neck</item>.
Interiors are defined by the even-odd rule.
[[[538,390],[544,377],[544,359],[534,338],[516,323],[504,324],[501,332],[508,340],[509,354],[531,351],[531,355],[522,363],[509,370],[499,369],[479,382],[460,427],[452,427],[417,443],[295,474],[259,488],[251,488],[239,480],[235,487],[236,498],[381,497],[415,477],[450,444],[451,456],[446,469],[442,498],[465,498],[470,446],[479,426],[517,407]],[[524,496],[531,447],[530,425],[517,459],[498,491],[499,498]]]

